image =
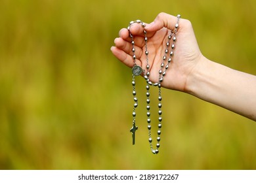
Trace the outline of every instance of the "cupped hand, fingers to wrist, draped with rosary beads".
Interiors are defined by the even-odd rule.
[[[167,37],[170,30],[175,28],[177,17],[160,13],[151,24],[142,27],[140,24],[132,24],[130,31],[135,40],[136,63],[146,70],[146,54],[144,42],[144,29],[148,37],[148,61],[150,65],[150,80],[158,82],[160,65],[165,53]],[[190,73],[196,67],[198,61],[203,58],[191,23],[188,20],[180,19],[177,32],[177,41],[169,69],[163,78],[161,86],[172,90],[186,92],[186,82]],[[133,67],[133,52],[131,38],[127,29],[119,31],[119,37],[115,39],[116,46],[111,50],[114,56],[128,67]],[[168,58],[168,57],[167,57]],[[166,63],[165,63],[166,64]]]

